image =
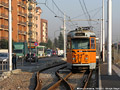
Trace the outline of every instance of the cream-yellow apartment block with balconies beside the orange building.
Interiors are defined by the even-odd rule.
[[[27,22],[28,22],[28,28],[27,28],[27,42],[28,45],[34,45],[35,42],[37,42],[36,39],[36,35],[37,35],[37,31],[36,31],[36,27],[37,27],[37,13],[36,13],[36,0],[29,0],[27,3],[28,6],[28,18],[27,18]]]

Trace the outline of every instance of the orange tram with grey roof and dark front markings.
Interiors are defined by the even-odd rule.
[[[96,68],[96,36],[91,27],[79,27],[68,33],[67,62],[72,67]]]

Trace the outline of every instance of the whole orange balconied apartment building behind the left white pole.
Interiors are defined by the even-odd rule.
[[[8,1],[0,0],[0,39],[8,40]],[[26,41],[27,0],[12,0],[12,39]]]

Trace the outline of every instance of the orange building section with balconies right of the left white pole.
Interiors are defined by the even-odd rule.
[[[25,42],[27,35],[27,0],[12,0],[13,40]]]

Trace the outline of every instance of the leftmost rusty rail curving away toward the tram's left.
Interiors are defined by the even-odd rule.
[[[39,74],[45,70],[48,70],[50,68],[53,68],[53,67],[56,67],[56,66],[60,66],[60,65],[63,65],[63,64],[66,64],[66,62],[63,62],[63,63],[60,63],[60,64],[56,64],[56,65],[52,65],[52,66],[49,66],[49,67],[46,67],[46,68],[43,68],[41,69],[40,71],[37,72],[36,74],[36,87],[35,87],[35,90],[41,90],[42,89],[42,80],[39,78]]]

